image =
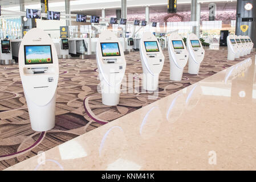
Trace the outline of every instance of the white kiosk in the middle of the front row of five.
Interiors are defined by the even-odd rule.
[[[143,89],[154,91],[159,86],[159,74],[164,66],[164,54],[152,32],[144,32],[140,41],[143,68]]]

